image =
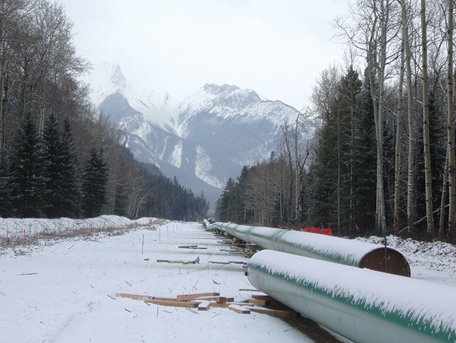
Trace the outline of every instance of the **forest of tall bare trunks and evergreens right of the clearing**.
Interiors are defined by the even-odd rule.
[[[454,1],[356,0],[345,53],[269,160],[229,179],[217,219],[455,242]]]

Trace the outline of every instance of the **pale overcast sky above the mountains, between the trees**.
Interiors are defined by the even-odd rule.
[[[61,0],[77,53],[121,65],[135,88],[182,100],[236,84],[298,110],[322,70],[342,63],[333,20],[348,0]]]

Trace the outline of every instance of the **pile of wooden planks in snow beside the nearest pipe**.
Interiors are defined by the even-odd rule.
[[[255,312],[278,318],[294,318],[297,316],[295,311],[286,308],[286,306],[267,295],[252,295],[252,297],[242,302],[234,302],[234,297],[221,297],[220,293],[217,292],[177,295],[174,298],[117,293],[116,297],[142,300],[147,304],[159,306],[198,309],[198,311],[207,311],[210,308],[224,308],[241,314]]]

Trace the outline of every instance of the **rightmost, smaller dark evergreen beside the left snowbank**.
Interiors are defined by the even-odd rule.
[[[107,200],[107,167],[102,154],[95,148],[90,152],[90,159],[83,170],[83,211],[86,217],[100,216]]]

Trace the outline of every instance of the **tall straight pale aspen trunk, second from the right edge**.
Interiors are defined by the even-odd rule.
[[[432,171],[431,171],[431,144],[429,140],[429,76],[427,72],[427,23],[426,1],[421,0],[421,32],[422,32],[422,98],[423,98],[423,145],[424,145],[424,178],[426,193],[427,232],[434,231],[434,214],[432,208]]]

